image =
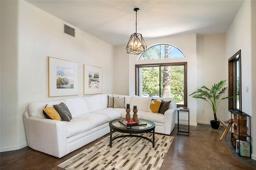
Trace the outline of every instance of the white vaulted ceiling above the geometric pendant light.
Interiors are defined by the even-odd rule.
[[[244,0],[26,0],[112,45],[135,32],[144,39],[178,34],[225,33]]]

